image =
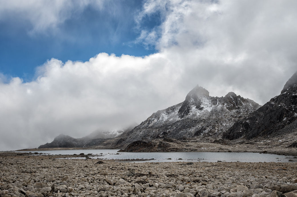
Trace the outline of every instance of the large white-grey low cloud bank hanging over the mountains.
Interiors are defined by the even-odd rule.
[[[0,75],[0,150],[37,147],[61,133],[140,123],[184,100],[196,84],[266,103],[297,70],[296,1],[146,1],[135,17],[162,12],[135,41],[145,57],[98,54],[87,62],[51,59],[36,79]],[[2,80],[1,80],[2,79]]]

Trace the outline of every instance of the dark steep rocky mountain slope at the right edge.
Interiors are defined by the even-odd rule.
[[[234,123],[223,138],[252,139],[268,135],[284,135],[296,131],[297,122],[297,72],[287,81],[280,95]]]

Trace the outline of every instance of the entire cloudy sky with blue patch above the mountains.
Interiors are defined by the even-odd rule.
[[[295,0],[0,0],[0,150],[139,124],[197,84],[263,105],[297,70],[296,9]]]

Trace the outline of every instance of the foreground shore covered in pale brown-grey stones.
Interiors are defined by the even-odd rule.
[[[55,157],[0,153],[0,196],[297,196],[296,163],[125,163]]]

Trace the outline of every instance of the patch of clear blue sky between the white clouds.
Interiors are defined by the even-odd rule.
[[[154,46],[134,42],[140,35],[135,17],[142,6],[140,0],[105,1],[101,10],[90,4],[54,29],[33,33],[29,20],[10,13],[0,20],[0,72],[31,81],[35,68],[51,58],[87,61],[101,52],[116,56],[155,53]],[[150,30],[161,24],[161,17],[155,13],[141,23],[142,29]]]

